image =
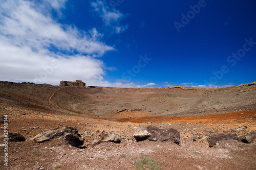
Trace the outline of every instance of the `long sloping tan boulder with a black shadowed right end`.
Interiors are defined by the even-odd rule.
[[[78,133],[78,130],[72,127],[60,127],[54,130],[44,131],[33,137],[35,142],[45,142],[52,138],[62,137],[73,147],[79,147],[83,145],[83,139]]]

